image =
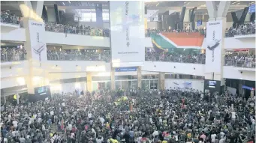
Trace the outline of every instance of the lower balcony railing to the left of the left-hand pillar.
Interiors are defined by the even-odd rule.
[[[1,62],[6,61],[24,61],[26,60],[26,53],[2,53]]]

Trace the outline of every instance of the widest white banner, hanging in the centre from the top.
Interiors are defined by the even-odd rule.
[[[144,1],[110,1],[110,30],[112,62],[143,64]]]

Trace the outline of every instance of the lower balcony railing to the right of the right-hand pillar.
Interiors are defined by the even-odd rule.
[[[255,68],[255,61],[225,59],[224,66]]]

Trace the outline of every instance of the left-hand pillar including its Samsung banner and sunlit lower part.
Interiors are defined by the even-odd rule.
[[[30,17],[31,18],[31,17]],[[29,61],[29,75],[26,76],[28,94],[35,94],[35,88],[49,85],[47,66],[47,46],[45,43],[44,22],[23,18],[26,29],[24,43]]]

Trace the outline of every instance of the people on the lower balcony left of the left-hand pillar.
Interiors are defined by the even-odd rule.
[[[26,59],[26,49],[17,47],[1,48],[1,61],[23,61]]]

